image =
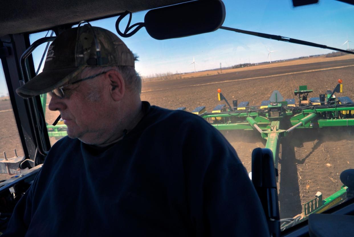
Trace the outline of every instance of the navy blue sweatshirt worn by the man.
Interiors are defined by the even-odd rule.
[[[267,236],[223,135],[189,112],[143,108],[138,125],[105,148],[57,141],[4,236]]]

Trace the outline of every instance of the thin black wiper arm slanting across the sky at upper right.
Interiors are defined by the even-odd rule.
[[[254,35],[254,36],[263,37],[263,38],[271,39],[271,40],[280,40],[280,41],[290,42],[290,43],[299,44],[299,45],[307,45],[307,46],[313,46],[313,47],[318,47],[318,48],[327,48],[329,50],[336,50],[336,51],[340,51],[340,52],[344,52],[344,53],[354,54],[354,52],[352,52],[352,51],[341,50],[340,48],[333,48],[333,47],[329,47],[326,45],[315,44],[315,43],[304,41],[304,40],[291,39],[291,38],[280,36],[280,35],[270,35],[270,34],[264,34],[264,33],[254,32],[254,31],[248,31],[248,30],[240,30],[240,29],[235,29],[235,28],[225,27],[225,26],[221,26],[220,29],[235,31],[235,32],[247,34],[247,35]]]

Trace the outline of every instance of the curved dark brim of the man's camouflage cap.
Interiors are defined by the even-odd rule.
[[[23,86],[17,88],[16,93],[23,98],[29,98],[50,92],[68,83],[81,70],[81,67],[75,67],[42,71]]]

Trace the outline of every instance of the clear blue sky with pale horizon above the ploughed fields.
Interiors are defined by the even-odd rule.
[[[293,8],[291,0],[286,1],[235,1],[224,0],[226,18],[224,26],[268,34],[292,37],[327,46],[346,49],[342,44],[347,35],[354,48],[354,6],[335,0],[322,0],[320,4]],[[132,24],[143,22],[145,12],[133,14]],[[183,16],[182,17],[187,17]],[[126,17],[127,20],[127,17]],[[94,26],[114,33],[116,18],[92,22]],[[122,21],[124,29],[126,21]],[[193,23],[191,23],[193,24]],[[46,32],[30,36],[31,43]],[[258,63],[323,54],[331,52],[320,48],[290,44],[275,40],[244,35],[218,29],[214,32],[170,40],[155,40],[142,28],[130,38],[122,39],[139,56],[136,70],[143,76],[155,73],[184,73],[193,71],[193,57],[196,70],[230,67],[240,63]],[[350,43],[349,43],[350,44]],[[33,53],[35,67],[38,67],[45,45]],[[0,68],[0,95],[6,94],[6,84]]]

